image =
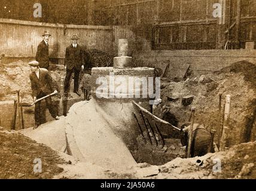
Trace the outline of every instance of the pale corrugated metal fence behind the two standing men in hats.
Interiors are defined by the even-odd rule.
[[[80,37],[78,43],[83,47],[116,56],[119,38],[129,39],[129,53],[151,50],[151,29],[150,26],[81,26],[0,19],[0,54],[35,57],[42,33],[48,30],[52,35],[50,57],[65,57],[65,49],[71,44],[70,38],[74,33]]]

